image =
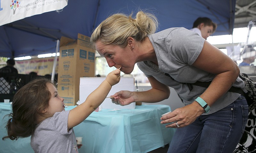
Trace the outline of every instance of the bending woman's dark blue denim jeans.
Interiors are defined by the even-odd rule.
[[[233,153],[247,119],[248,105],[244,96],[240,96],[227,107],[178,128],[168,153]]]

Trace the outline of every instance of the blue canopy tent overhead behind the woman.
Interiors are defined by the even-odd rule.
[[[73,0],[60,11],[46,12],[0,26],[0,56],[21,57],[53,53],[61,36],[90,36],[111,14],[147,10],[159,20],[158,31],[170,27],[192,28],[197,17],[218,24],[213,35],[232,34],[236,0]],[[16,10],[18,11],[18,10]],[[0,14],[1,15],[1,14]]]

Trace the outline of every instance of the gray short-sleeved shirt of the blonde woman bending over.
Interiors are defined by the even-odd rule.
[[[154,50],[160,71],[156,71],[144,62],[138,62],[140,70],[147,76],[153,76],[159,82],[174,88],[185,105],[191,104],[206,88],[193,85],[190,91],[188,85],[182,83],[195,83],[196,81],[211,81],[215,74],[198,69],[192,64],[202,51],[205,39],[196,32],[185,28],[169,28],[148,35]],[[175,81],[176,80],[176,81]],[[180,83],[182,82],[182,83]],[[234,87],[244,88],[244,82],[239,77]],[[210,107],[207,114],[212,114],[234,102],[240,94],[227,92]],[[203,115],[207,115],[203,114]]]

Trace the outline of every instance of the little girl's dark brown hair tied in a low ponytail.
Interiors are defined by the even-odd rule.
[[[48,83],[54,85],[51,80],[39,77],[17,91],[12,101],[12,113],[5,115],[9,116],[5,126],[8,136],[4,136],[3,140],[17,140],[34,133],[37,116],[43,115],[41,112],[49,106],[51,93],[47,87]]]

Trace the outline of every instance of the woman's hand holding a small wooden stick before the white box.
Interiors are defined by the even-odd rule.
[[[135,102],[134,100],[134,94],[131,91],[119,91],[115,94],[113,94],[111,97],[112,103],[115,103],[116,105],[129,105],[132,102]]]

